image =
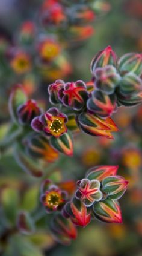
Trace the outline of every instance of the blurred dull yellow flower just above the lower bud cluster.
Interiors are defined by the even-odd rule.
[[[86,166],[97,165],[100,162],[100,151],[94,148],[88,148],[82,154],[82,162]]]

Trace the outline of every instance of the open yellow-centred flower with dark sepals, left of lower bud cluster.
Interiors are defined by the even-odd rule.
[[[67,200],[67,192],[52,184],[50,180],[45,180],[42,184],[42,195],[40,201],[46,212],[61,211]]]

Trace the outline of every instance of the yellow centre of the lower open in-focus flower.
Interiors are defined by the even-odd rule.
[[[58,192],[51,191],[46,194],[45,206],[48,206],[49,208],[55,208],[60,205],[61,202],[61,195]]]

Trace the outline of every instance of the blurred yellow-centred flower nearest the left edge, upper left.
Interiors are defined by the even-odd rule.
[[[31,61],[28,54],[17,53],[10,62],[13,70],[18,74],[23,74],[31,70]]]

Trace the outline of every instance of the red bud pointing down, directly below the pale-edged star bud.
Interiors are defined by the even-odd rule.
[[[91,208],[88,208],[75,197],[64,206],[64,217],[70,217],[72,222],[77,226],[85,227],[91,221]]]

